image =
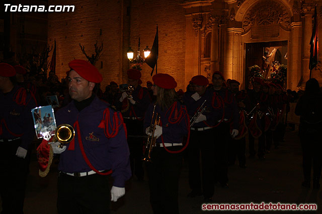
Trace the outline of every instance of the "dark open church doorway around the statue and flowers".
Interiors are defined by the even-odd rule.
[[[264,51],[268,50],[269,53],[271,53],[271,51],[274,48],[276,49],[274,61],[278,61],[280,64],[287,65],[287,59],[285,59],[285,55],[287,53],[287,41],[247,43],[246,44],[246,72],[245,72],[245,74],[246,74],[245,75],[246,88],[249,88],[249,86],[250,86],[249,67],[254,66],[254,65],[258,65],[262,69],[263,68]]]

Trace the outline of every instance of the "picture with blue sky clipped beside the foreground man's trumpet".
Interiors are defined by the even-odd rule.
[[[55,135],[56,121],[52,106],[40,106],[31,110],[37,138]]]

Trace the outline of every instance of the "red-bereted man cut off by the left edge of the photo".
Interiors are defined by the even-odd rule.
[[[36,100],[17,85],[16,70],[0,63],[0,193],[2,213],[23,213]]]

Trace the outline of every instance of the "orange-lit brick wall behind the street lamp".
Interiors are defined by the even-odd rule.
[[[126,71],[130,66],[126,50],[129,45],[134,51],[137,50],[139,35],[141,49],[144,49],[145,45],[151,49],[157,24],[159,36],[157,70],[160,73],[173,75],[178,82],[177,90],[184,89],[185,13],[180,3],[170,0],[49,0],[48,5],[75,6],[74,12],[48,13],[48,44],[53,44],[54,39],[57,44],[57,75],[59,78],[64,78],[68,62],[74,58],[86,60],[79,43],[85,46],[86,53],[91,56],[95,53],[96,41],[98,45],[103,41],[103,55],[96,64],[103,75],[103,91],[110,81],[126,83]],[[141,54],[143,55],[143,52]],[[151,69],[144,64],[142,86],[145,86],[147,80],[151,80],[150,72]]]

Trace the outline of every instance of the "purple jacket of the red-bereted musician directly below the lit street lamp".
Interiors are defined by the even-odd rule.
[[[117,98],[115,105],[117,109],[121,110],[122,103],[120,102],[122,93]],[[143,118],[145,111],[147,109],[147,106],[150,104],[151,99],[148,91],[145,88],[142,88],[141,86],[137,86],[134,91],[132,92],[133,100],[136,102],[134,105],[131,104],[131,102],[128,102],[129,108],[127,111],[123,112],[123,117],[140,117]],[[127,99],[127,98],[125,98]],[[126,101],[123,101],[126,102]],[[134,110],[134,112],[133,112]]]

